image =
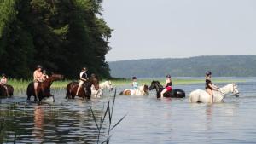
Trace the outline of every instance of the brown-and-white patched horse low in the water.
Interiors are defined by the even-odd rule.
[[[138,89],[125,89],[119,95],[149,95],[148,85],[139,86]]]

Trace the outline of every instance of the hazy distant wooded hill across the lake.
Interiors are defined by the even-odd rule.
[[[256,77],[256,55],[197,56],[180,59],[122,60],[109,62],[111,75],[117,78],[165,77]]]

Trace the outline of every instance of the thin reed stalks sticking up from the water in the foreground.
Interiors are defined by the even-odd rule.
[[[102,134],[102,125],[106,122],[106,118],[108,117],[108,133],[107,133],[107,139],[105,141],[102,141],[102,143],[109,143],[110,141],[110,132],[125,118],[125,116],[123,118],[120,118],[119,121],[116,123],[116,124],[113,124],[112,125],[112,118],[113,118],[113,107],[114,107],[114,102],[115,102],[115,97],[116,97],[116,89],[114,90],[114,95],[113,95],[113,102],[112,102],[112,105],[111,105],[111,101],[109,99],[109,95],[108,95],[108,101],[107,101],[107,107],[106,109],[104,108],[104,105],[103,105],[103,108],[102,108],[102,115],[101,115],[101,118],[100,118],[100,122],[97,122],[96,120],[96,115],[94,114],[93,110],[92,110],[92,107],[90,106],[90,112],[92,114],[92,117],[95,121],[95,124],[96,124],[96,127],[97,127],[97,130],[98,130],[98,135],[97,135],[97,143],[100,142],[100,136]]]

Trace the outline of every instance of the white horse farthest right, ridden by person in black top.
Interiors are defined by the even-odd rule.
[[[223,102],[225,95],[228,95],[229,93],[233,93],[233,95],[236,95],[236,97],[239,96],[239,91],[236,84],[227,84],[218,91],[212,90],[212,92],[213,102]],[[211,99],[210,95],[205,90],[196,89],[189,94],[189,102],[210,103]]]

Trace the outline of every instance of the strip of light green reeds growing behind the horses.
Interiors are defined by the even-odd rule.
[[[107,79],[102,79],[100,81],[104,82]],[[125,86],[125,85],[131,85],[131,79],[129,78],[113,78],[109,79],[111,80],[113,87],[116,86]],[[137,79],[137,82],[139,84],[148,84],[150,85],[153,80],[160,81],[160,84],[165,83],[165,78],[145,78],[145,79]],[[62,80],[62,81],[55,81],[51,85],[51,89],[66,89],[67,84],[77,80]],[[32,80],[24,80],[24,79],[9,79],[8,84],[12,85],[15,89],[15,91],[20,90],[26,90],[27,85],[31,83]],[[212,82],[215,84],[222,84],[222,83],[237,83],[237,82],[246,82],[246,80],[242,79],[229,79],[229,78],[212,78]],[[205,79],[204,78],[172,78],[172,84],[174,85],[188,85],[188,84],[204,84]]]

